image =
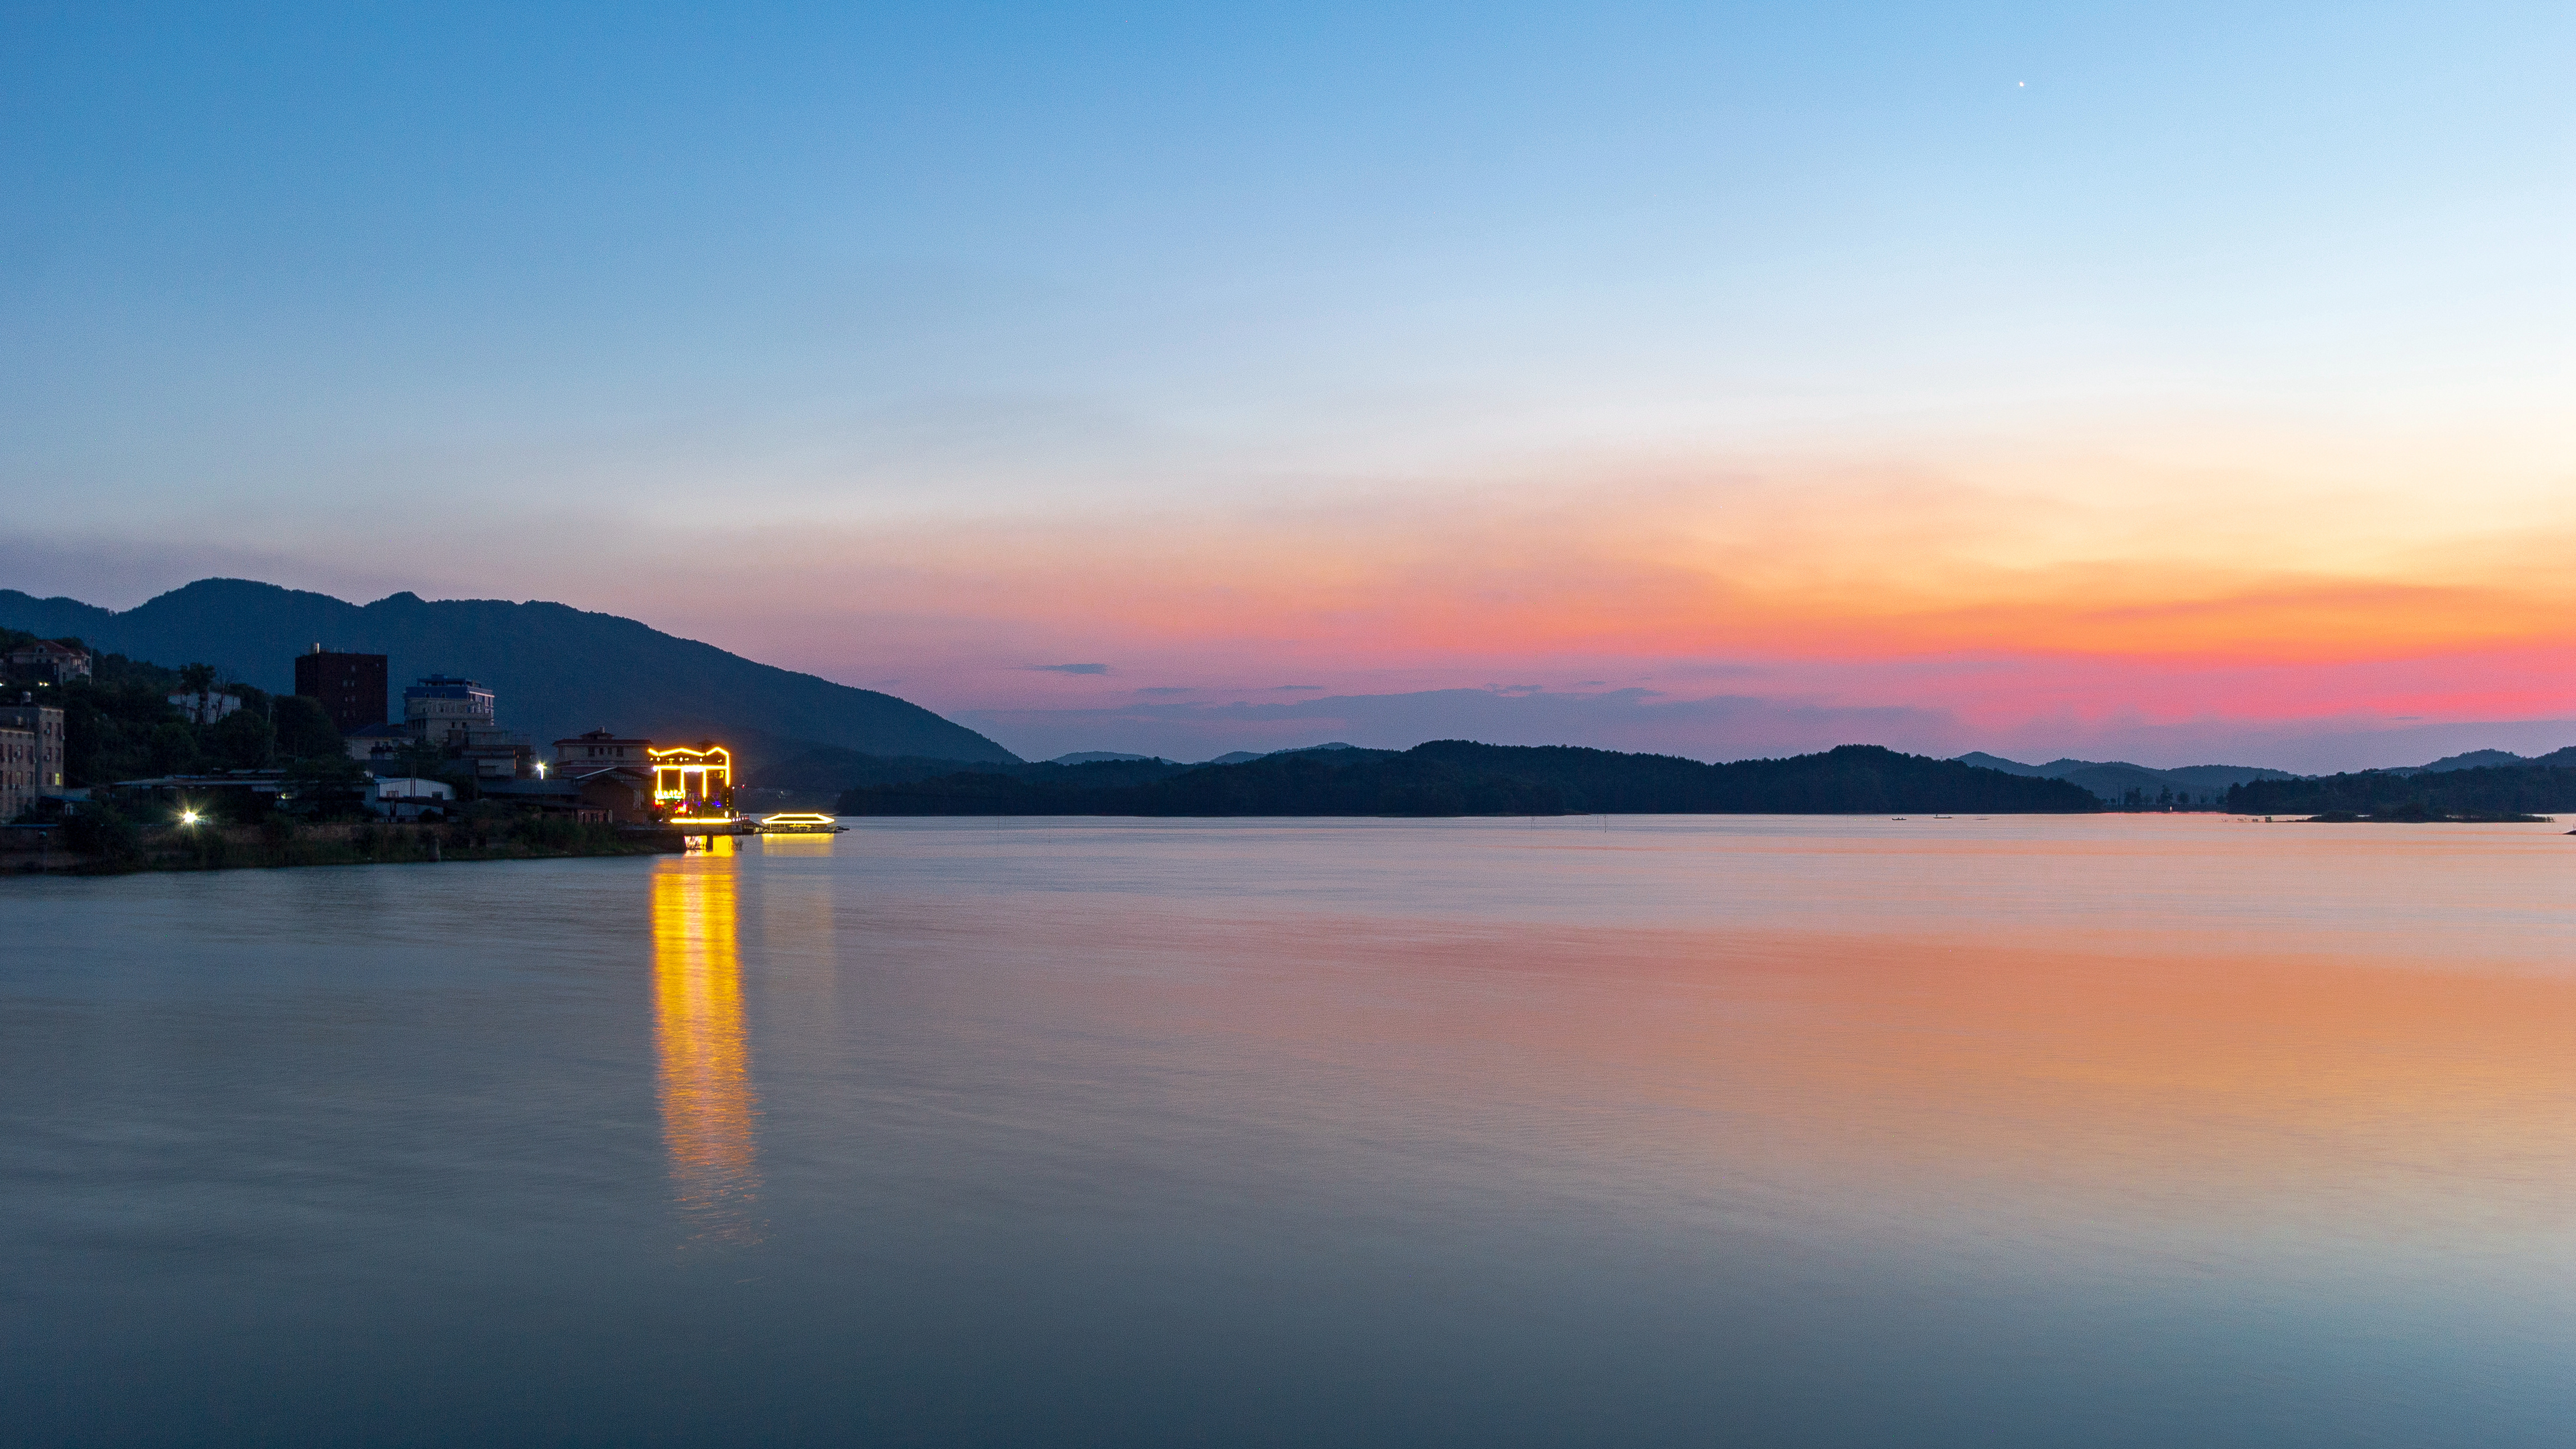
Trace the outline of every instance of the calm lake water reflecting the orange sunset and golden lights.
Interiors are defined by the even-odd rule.
[[[2576,1441],[2576,839],[0,883],[13,1444]]]

